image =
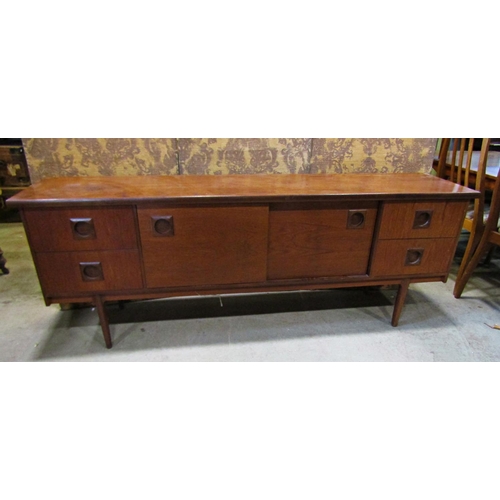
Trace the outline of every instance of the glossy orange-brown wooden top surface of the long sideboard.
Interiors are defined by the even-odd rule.
[[[364,199],[472,199],[479,193],[426,174],[57,177],[8,200],[12,207]]]

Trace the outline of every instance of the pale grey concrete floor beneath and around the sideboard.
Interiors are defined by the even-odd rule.
[[[0,247],[0,361],[500,361],[498,256],[461,299],[458,257],[448,283],[412,285],[397,328],[394,290],[167,299],[108,306],[107,350],[93,309],[45,307],[21,223],[0,224]]]

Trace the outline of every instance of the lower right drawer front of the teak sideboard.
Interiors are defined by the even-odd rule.
[[[456,238],[381,240],[371,264],[371,277],[448,274]]]

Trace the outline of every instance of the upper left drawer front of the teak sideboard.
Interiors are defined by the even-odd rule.
[[[24,220],[36,252],[137,248],[132,207],[27,209]]]

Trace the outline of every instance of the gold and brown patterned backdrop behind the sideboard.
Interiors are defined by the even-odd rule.
[[[436,139],[23,139],[45,177],[428,173]]]

